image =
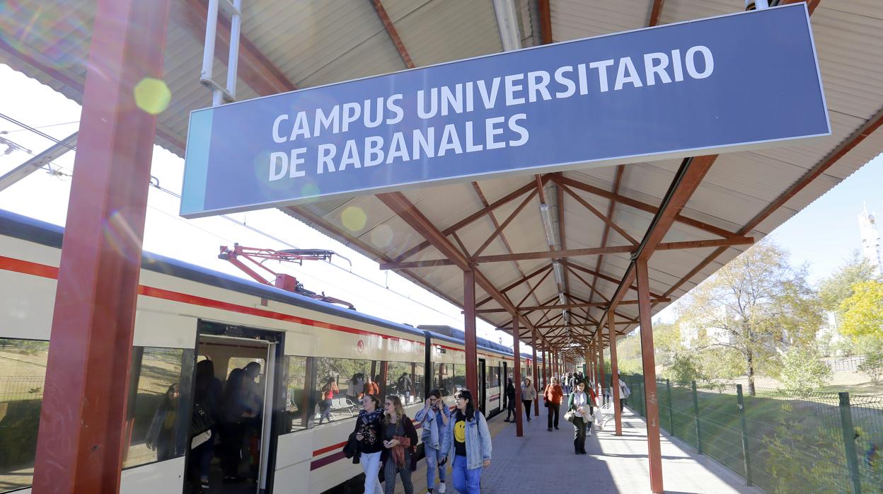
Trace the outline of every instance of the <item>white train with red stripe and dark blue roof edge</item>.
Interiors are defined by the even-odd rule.
[[[0,211],[0,492],[30,492],[62,233]],[[209,467],[213,493],[359,491],[361,468],[341,450],[368,378],[381,394],[401,396],[411,417],[431,389],[452,394],[465,383],[462,333],[450,328],[390,323],[159,255],[144,256],[139,293],[123,492],[194,489],[197,361],[212,361],[222,385],[233,369],[260,364],[263,410],[236,465],[250,480],[223,483],[222,433]],[[492,415],[513,359],[481,338],[478,353],[479,406]],[[339,392],[327,401],[329,382]]]

